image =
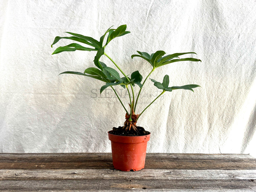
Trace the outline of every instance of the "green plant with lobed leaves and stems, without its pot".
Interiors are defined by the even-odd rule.
[[[116,62],[113,61],[113,59],[107,55],[105,52],[105,48],[112,41],[112,39],[116,37],[121,37],[125,34],[130,33],[129,31],[126,31],[126,25],[121,25],[116,29],[109,28],[103,36],[101,36],[100,41],[97,41],[96,39],[92,37],[83,36],[81,34],[66,32],[70,34],[70,37],[55,37],[53,44],[51,47],[57,43],[60,39],[70,39],[76,42],[84,43],[86,44],[86,47],[84,45],[80,45],[78,43],[71,43],[64,47],[58,47],[54,50],[52,54],[61,53],[64,51],[75,51],[75,50],[84,50],[84,51],[95,51],[96,56],[94,58],[94,64],[95,67],[89,67],[85,69],[84,73],[81,72],[75,72],[75,71],[65,71],[60,74],[75,74],[75,75],[84,75],[90,78],[94,78],[100,81],[103,81],[105,85],[103,85],[100,89],[100,93],[104,91],[107,87],[111,87],[116,94],[118,100],[120,101],[121,105],[123,106],[124,110],[126,111],[125,117],[126,121],[124,122],[124,126],[120,126],[119,128],[113,128],[113,130],[118,130],[119,132],[116,134],[121,135],[145,135],[147,132],[142,127],[137,127],[136,123],[140,116],[143,114],[143,112],[155,101],[157,100],[162,94],[164,94],[165,91],[171,92],[172,90],[176,89],[186,89],[193,91],[193,88],[199,87],[199,85],[184,85],[184,86],[171,86],[169,87],[169,76],[165,75],[164,79],[161,82],[158,82],[156,80],[151,79],[151,81],[154,82],[154,86],[156,86],[158,89],[161,89],[162,92],[160,95],[158,95],[142,112],[139,114],[136,114],[136,107],[138,104],[140,92],[142,91],[142,88],[145,84],[145,81],[149,78],[149,76],[155,71],[156,68],[159,68],[160,66],[167,65],[174,62],[180,62],[180,61],[192,61],[192,62],[201,62],[200,59],[196,58],[179,58],[180,55],[185,54],[196,54],[194,52],[187,52],[187,53],[174,53],[170,55],[164,56],[166,53],[162,50],[158,50],[155,53],[148,54],[146,52],[140,52],[137,51],[138,54],[132,55],[132,59],[134,57],[141,57],[144,60],[146,60],[148,63],[152,65],[152,70],[150,73],[146,76],[146,78],[143,80],[142,75],[139,73],[139,71],[134,71],[130,76],[124,73],[124,71],[116,64]],[[107,38],[107,39],[106,39]],[[104,41],[106,40],[106,41]],[[105,44],[103,42],[106,42]],[[105,55],[108,59],[111,60],[111,62],[116,66],[116,68],[122,73],[122,77],[118,73],[116,69],[113,69],[109,66],[107,66],[105,63],[100,61],[100,58],[102,55]],[[135,94],[133,87],[137,85],[139,86],[139,92],[137,94],[137,98],[135,100]],[[116,86],[122,86],[124,89],[127,89],[128,95],[129,95],[129,110],[127,110],[124,106],[123,102],[121,101],[121,98],[118,96],[117,91],[115,90]],[[140,129],[139,129],[140,128]]]

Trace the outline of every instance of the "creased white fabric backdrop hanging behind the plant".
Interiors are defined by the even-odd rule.
[[[166,92],[145,111],[137,124],[151,132],[147,151],[256,155],[255,0],[2,0],[0,6],[1,153],[111,151],[107,131],[125,120],[113,92],[100,96],[101,81],[58,76],[94,66],[96,52],[51,55],[71,40],[50,44],[65,31],[99,39],[110,26],[127,24],[131,33],[106,48],[127,74],[139,70],[145,78],[151,70],[130,58],[136,50],[192,51],[202,60],[152,74],[158,81],[168,74],[170,86],[201,87]],[[151,81],[145,85],[137,112],[158,91]],[[122,96],[128,106],[124,90]]]

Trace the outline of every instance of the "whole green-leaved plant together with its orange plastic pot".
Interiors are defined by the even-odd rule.
[[[108,132],[108,137],[111,140],[114,168],[122,171],[137,171],[143,169],[145,164],[146,145],[150,138],[150,132],[146,131],[143,127],[137,126],[137,121],[140,118],[140,116],[155,100],[157,100],[162,94],[164,94],[164,92],[171,92],[172,90],[176,89],[185,89],[193,91],[193,88],[199,86],[192,84],[169,87],[168,75],[164,76],[162,83],[151,79],[151,81],[154,82],[154,86],[156,86],[158,89],[161,89],[162,92],[147,107],[145,107],[144,110],[142,110],[141,112],[137,112],[136,107],[145,81],[155,71],[155,69],[159,68],[160,66],[180,61],[201,62],[201,60],[196,58],[179,58],[180,55],[196,54],[194,52],[174,53],[164,56],[166,53],[162,50],[158,50],[152,54],[137,51],[138,54],[132,55],[132,59],[134,57],[140,57],[152,65],[152,70],[143,80],[143,77],[138,70],[134,71],[131,75],[127,75],[126,73],[124,73],[124,71],[116,64],[116,62],[114,62],[113,59],[110,56],[108,56],[105,52],[105,47],[108,45],[108,43],[110,43],[110,41],[112,41],[116,37],[121,37],[125,34],[130,33],[129,31],[126,31],[126,25],[121,25],[116,29],[110,27],[103,34],[103,36],[100,37],[100,41],[97,41],[92,37],[83,36],[81,34],[71,32],[66,33],[70,34],[71,36],[55,37],[51,47],[60,39],[70,39],[76,42],[84,43],[85,45],[82,46],[78,43],[71,43],[64,47],[58,47],[54,50],[52,54],[75,50],[95,51],[96,55],[94,58],[94,65],[97,68],[89,67],[85,69],[84,73],[75,71],[65,71],[60,74],[84,75],[90,78],[94,78],[104,82],[100,89],[100,93],[102,93],[102,91],[104,91],[107,87],[110,87],[114,91],[123,109],[125,110],[126,119],[124,125],[119,126],[118,128],[113,127],[113,130],[110,130]],[[108,59],[111,60],[111,62],[121,72],[122,76],[120,76],[116,69],[113,69],[100,61],[100,58],[103,55],[105,55]],[[135,85],[139,86],[139,92],[137,95],[135,95],[133,90],[133,87]],[[130,102],[129,108],[128,106],[123,105],[121,98],[118,96],[118,93],[115,90],[116,86],[122,86],[124,89],[127,89]],[[137,97],[135,98],[135,96]]]

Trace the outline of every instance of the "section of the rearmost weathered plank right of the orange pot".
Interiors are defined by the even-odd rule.
[[[248,158],[247,158],[248,157]],[[256,159],[250,155],[232,154],[160,154],[146,157],[145,169],[256,169]],[[168,168],[169,167],[169,168]]]

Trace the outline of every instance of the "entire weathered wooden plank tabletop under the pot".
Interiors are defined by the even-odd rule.
[[[256,191],[249,154],[147,154],[113,169],[111,153],[0,154],[0,191]]]

